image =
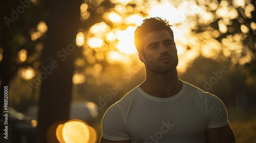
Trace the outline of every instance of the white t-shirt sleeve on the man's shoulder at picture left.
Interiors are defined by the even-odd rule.
[[[102,137],[109,140],[129,140],[126,124],[120,107],[111,106],[103,116]]]

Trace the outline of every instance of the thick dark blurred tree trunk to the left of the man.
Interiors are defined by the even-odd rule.
[[[54,124],[67,121],[72,92],[74,59],[77,55],[75,44],[79,25],[80,1],[47,1],[50,15],[46,21],[47,39],[44,44],[41,81],[38,141],[57,142]],[[50,134],[50,136],[48,136]]]

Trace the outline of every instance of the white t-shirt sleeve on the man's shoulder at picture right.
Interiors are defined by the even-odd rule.
[[[218,97],[208,94],[207,108],[208,124],[206,129],[223,127],[228,124],[226,107]]]

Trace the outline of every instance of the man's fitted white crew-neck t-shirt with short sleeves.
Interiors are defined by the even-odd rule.
[[[112,105],[102,120],[102,137],[131,142],[206,142],[205,131],[228,124],[219,98],[183,82],[173,97],[156,98],[139,86]]]

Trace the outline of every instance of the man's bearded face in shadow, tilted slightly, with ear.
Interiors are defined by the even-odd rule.
[[[147,33],[142,38],[144,54],[139,58],[154,73],[166,73],[178,65],[177,49],[167,30]]]

